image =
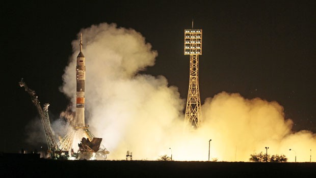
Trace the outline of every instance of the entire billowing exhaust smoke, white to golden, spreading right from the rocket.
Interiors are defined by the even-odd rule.
[[[293,161],[292,149],[300,155],[297,161],[309,161],[310,149],[316,148],[315,134],[293,133],[293,122],[284,118],[277,102],[225,92],[205,100],[203,123],[196,132],[183,132],[186,99],[180,98],[177,87],[168,86],[164,76],[138,73],[153,66],[157,56],[140,33],[107,23],[80,33],[87,68],[86,124],[103,138],[109,160],[123,160],[130,151],[133,160],[172,154],[173,160],[206,161],[209,139],[210,159],[219,161],[248,161],[265,146],[270,147],[268,154],[284,154]],[[75,103],[79,39],[72,46],[61,90]]]

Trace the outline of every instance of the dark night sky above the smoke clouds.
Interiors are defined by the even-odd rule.
[[[38,113],[21,78],[57,120],[69,104],[59,87],[71,41],[81,28],[102,22],[141,33],[158,52],[142,73],[165,76],[186,99],[190,57],[183,54],[183,31],[194,19],[194,28],[203,29],[202,104],[222,91],[276,101],[294,121],[293,131],[316,133],[316,1],[92,2],[2,3],[0,151],[32,148],[25,127]]]

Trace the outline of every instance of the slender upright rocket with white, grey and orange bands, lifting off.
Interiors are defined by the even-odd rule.
[[[82,53],[82,34],[80,34],[80,52],[77,56],[76,65],[76,117],[75,127],[85,127],[85,80],[86,64]]]

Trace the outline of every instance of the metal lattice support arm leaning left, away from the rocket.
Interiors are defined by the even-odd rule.
[[[47,141],[48,150],[55,151],[58,150],[58,145],[56,144],[56,141],[54,139],[54,135],[52,133],[51,127],[50,127],[50,121],[48,116],[48,103],[44,104],[44,107],[42,109],[40,105],[40,101],[38,100],[38,97],[35,94],[35,91],[31,90],[28,85],[23,81],[23,78],[19,82],[20,86],[24,86],[25,91],[29,93],[31,96],[31,99],[34,103],[34,105],[37,108],[38,114],[40,115],[41,122],[44,128],[45,137]]]

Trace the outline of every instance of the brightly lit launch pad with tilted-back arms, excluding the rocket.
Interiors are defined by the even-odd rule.
[[[73,127],[70,128],[68,133],[57,142],[55,135],[50,127],[49,115],[48,115],[48,103],[44,104],[42,108],[38,96],[35,91],[31,90],[23,79],[19,82],[20,86],[24,86],[25,91],[29,93],[33,103],[35,104],[37,111],[41,118],[41,123],[44,128],[46,142],[47,142],[47,153],[51,159],[101,159],[105,160],[107,155],[110,153],[106,147],[101,144],[102,138],[96,138],[89,131],[88,127]],[[86,136],[82,137],[81,143],[78,143],[78,151],[73,151],[73,141],[75,136]],[[88,157],[89,156],[89,157]]]

